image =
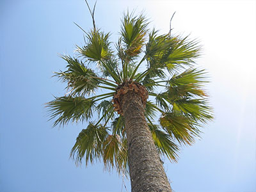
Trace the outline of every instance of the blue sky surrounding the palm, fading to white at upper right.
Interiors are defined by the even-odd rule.
[[[93,4],[94,1],[89,1]],[[197,37],[198,60],[212,83],[207,89],[215,120],[202,140],[164,167],[176,192],[256,191],[256,1],[98,1],[96,23],[117,40],[122,12],[144,10],[152,26]],[[0,191],[121,191],[122,178],[100,163],[76,167],[68,159],[85,125],[51,128],[44,103],[61,96],[51,78],[65,68],[58,53],[73,54],[92,27],[86,4],[77,1],[0,2]],[[126,181],[128,191],[129,182]],[[123,191],[125,189],[123,188]]]

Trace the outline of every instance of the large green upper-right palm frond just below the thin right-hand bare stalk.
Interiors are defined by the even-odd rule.
[[[155,29],[149,35],[145,51],[149,71],[166,68],[171,74],[175,68],[194,63],[199,55],[196,40],[188,40],[188,36],[157,35]]]

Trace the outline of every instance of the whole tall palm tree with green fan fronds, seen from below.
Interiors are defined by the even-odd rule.
[[[198,42],[150,31],[133,13],[122,19],[116,52],[94,19],[84,34],[85,45],[74,57],[62,55],[66,70],[54,75],[67,93],[47,103],[54,126],[88,122],[70,157],[129,175],[132,192],[172,191],[160,156],[177,161],[180,147],[193,144],[212,118],[207,76],[195,67]]]

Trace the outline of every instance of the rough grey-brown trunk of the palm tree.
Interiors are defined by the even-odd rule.
[[[131,191],[172,191],[145,120],[140,96],[134,92],[125,93],[122,110],[128,141]]]

